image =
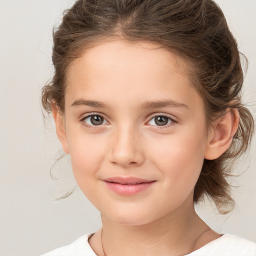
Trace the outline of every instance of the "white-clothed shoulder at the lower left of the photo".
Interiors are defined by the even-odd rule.
[[[46,252],[41,256],[96,256],[88,243],[90,235],[85,234],[72,243]]]

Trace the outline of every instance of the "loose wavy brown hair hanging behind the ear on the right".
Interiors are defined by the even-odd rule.
[[[236,108],[231,108],[231,110],[238,109],[239,122],[230,146],[218,158],[204,159],[194,188],[193,200],[195,203],[203,200],[206,195],[213,200],[221,214],[233,209],[234,200],[230,196],[230,185],[227,178],[232,175],[235,159],[245,152],[254,132],[252,114],[240,103],[238,105]]]

